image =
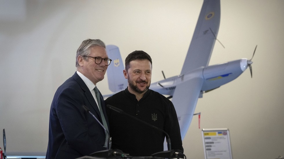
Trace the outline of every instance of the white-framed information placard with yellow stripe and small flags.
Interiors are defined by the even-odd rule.
[[[229,129],[202,129],[205,159],[232,159]]]

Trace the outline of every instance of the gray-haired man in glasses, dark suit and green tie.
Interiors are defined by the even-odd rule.
[[[99,39],[84,40],[78,48],[77,72],[57,89],[52,100],[47,159],[79,158],[108,148],[105,103],[94,88],[103,80],[110,62],[105,44]],[[90,109],[106,131],[82,105]]]

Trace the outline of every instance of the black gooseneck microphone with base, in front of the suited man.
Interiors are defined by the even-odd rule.
[[[103,126],[103,124],[101,124],[101,122],[94,116],[94,114],[90,111],[90,109],[87,106],[82,105],[82,107],[85,110],[85,112],[90,113],[97,120],[97,122],[101,125],[101,127],[103,127],[103,130],[108,132],[106,130],[106,128]],[[111,150],[110,147],[111,147],[110,133],[108,132],[108,150],[97,151],[97,152],[90,154],[90,156],[103,157],[103,158],[113,158],[113,156],[121,156],[122,155],[121,150],[119,150],[119,149]]]

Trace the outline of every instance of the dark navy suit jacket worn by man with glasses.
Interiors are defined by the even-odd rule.
[[[57,89],[52,100],[46,159],[79,158],[106,149],[103,147],[104,129],[91,114],[83,110],[82,105],[87,106],[101,121],[92,93],[75,72]],[[101,105],[108,123],[102,95]]]

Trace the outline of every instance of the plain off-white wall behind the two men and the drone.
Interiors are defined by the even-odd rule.
[[[0,0],[0,129],[7,152],[45,152],[53,95],[76,71],[87,38],[119,46],[122,58],[144,50],[152,82],[178,75],[203,1]],[[284,1],[223,0],[210,65],[254,56],[253,78],[236,80],[200,98],[202,128],[229,128],[234,158],[284,156]],[[98,83],[108,94],[107,79]],[[105,88],[105,89],[102,89]],[[204,158],[194,117],[183,140],[187,158]],[[1,136],[1,135],[0,135]],[[3,149],[2,137],[0,147]]]

